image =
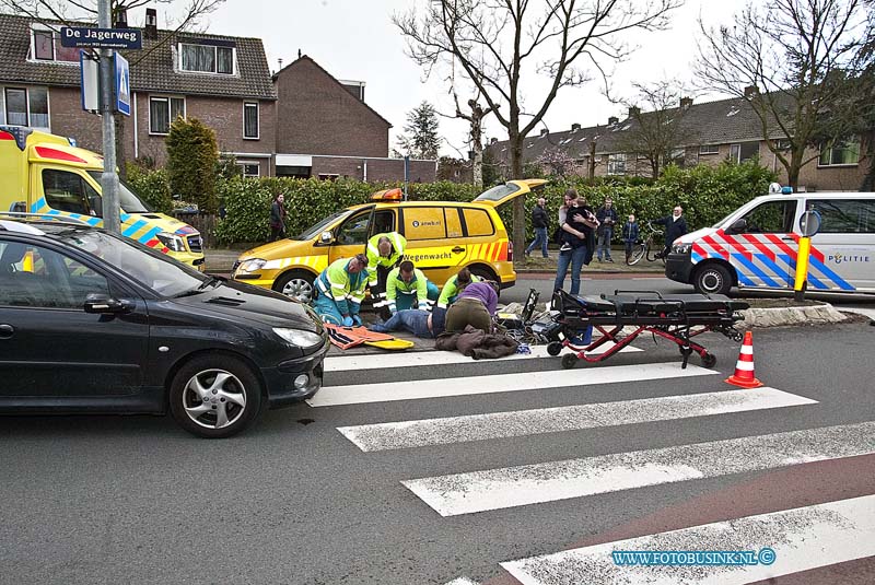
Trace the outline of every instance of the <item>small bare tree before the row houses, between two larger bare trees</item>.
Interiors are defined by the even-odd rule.
[[[651,176],[674,160],[675,151],[689,139],[682,127],[692,100],[682,97],[685,90],[667,80],[654,83],[634,83],[638,95],[618,102],[629,108],[631,128],[620,133],[617,147],[627,153],[643,156]],[[687,102],[689,100],[689,102]]]

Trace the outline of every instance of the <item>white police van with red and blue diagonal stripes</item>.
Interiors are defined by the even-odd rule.
[[[784,189],[788,189],[786,187]],[[793,290],[801,219],[815,211],[807,286],[820,292],[875,292],[875,194],[812,192],[757,197],[718,222],[677,238],[665,276],[702,293]]]

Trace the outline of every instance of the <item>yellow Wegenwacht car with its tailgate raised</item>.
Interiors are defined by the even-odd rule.
[[[468,268],[506,289],[516,283],[513,244],[497,208],[545,183],[509,180],[469,203],[402,201],[400,189],[380,191],[371,203],[338,211],[296,236],[244,251],[233,277],[306,302],[313,295],[313,280],[329,264],[364,254],[375,234],[398,232],[407,239],[405,259],[439,286]]]

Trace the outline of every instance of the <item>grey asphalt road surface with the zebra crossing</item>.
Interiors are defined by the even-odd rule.
[[[528,285],[503,301],[522,302]],[[532,285],[547,299],[549,280]],[[622,279],[585,280],[583,292],[615,288],[689,292]],[[872,539],[855,531],[866,525],[817,507],[875,510],[855,500],[875,494],[875,433],[859,426],[875,421],[875,327],[758,330],[756,376],[780,391],[761,410],[744,406],[754,390],[723,382],[738,346],[703,337],[713,370],[693,359],[681,371],[676,348],[644,337],[641,351],[571,371],[537,356],[419,354],[424,363],[399,366],[389,355],[363,367],[339,358],[313,405],[268,412],[226,441],[188,436],[168,418],[3,418],[0,583],[523,582],[508,571],[545,585],[677,582],[709,573],[618,570],[606,553],[555,566],[532,558],[722,520],[737,523],[737,538],[703,528],[687,546],[774,547],[773,574],[792,574],[770,583],[875,582]],[[730,398],[735,407],[719,406]],[[371,426],[435,418],[451,420]],[[791,508],[797,517],[781,515]],[[831,534],[818,523],[840,526],[867,559],[806,552]],[[788,553],[794,546],[828,566],[796,572],[810,566]]]

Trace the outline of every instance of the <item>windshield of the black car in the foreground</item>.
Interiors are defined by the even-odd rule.
[[[207,288],[213,279],[170,256],[126,237],[97,230],[71,230],[66,242],[92,254],[162,296],[180,296]]]

